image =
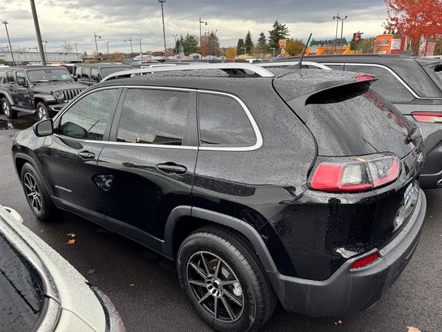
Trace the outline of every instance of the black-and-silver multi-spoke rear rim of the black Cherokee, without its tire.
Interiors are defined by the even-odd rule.
[[[217,255],[200,251],[187,263],[187,282],[204,310],[222,322],[236,322],[244,311],[244,295],[238,277]]]

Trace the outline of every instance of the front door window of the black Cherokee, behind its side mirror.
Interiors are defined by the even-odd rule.
[[[61,116],[58,133],[83,140],[102,140],[110,113],[115,110],[118,89],[90,93]]]

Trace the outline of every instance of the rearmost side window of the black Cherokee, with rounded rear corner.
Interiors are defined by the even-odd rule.
[[[200,141],[205,147],[249,147],[256,135],[240,103],[224,95],[200,93]]]

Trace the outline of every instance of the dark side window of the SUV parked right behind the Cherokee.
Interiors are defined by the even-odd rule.
[[[383,97],[390,102],[411,102],[414,100],[410,91],[385,68],[352,64],[345,64],[345,67],[348,71],[359,71],[361,73],[375,75],[378,80],[372,83],[372,89],[380,95],[383,95]]]

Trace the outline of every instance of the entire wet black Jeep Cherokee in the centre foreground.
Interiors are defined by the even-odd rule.
[[[277,299],[362,311],[410,261],[423,141],[373,77],[253,64],[117,75],[15,137],[39,219],[68,210],[175,260],[217,331],[258,331]]]

